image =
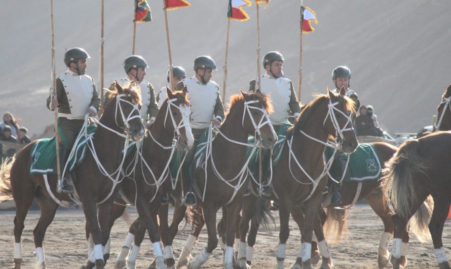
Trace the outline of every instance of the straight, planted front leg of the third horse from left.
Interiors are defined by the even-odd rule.
[[[240,221],[240,211],[239,200],[233,201],[232,204],[227,206],[227,222],[225,223],[226,235],[225,239],[227,241],[227,246],[225,247],[224,253],[224,268],[233,269],[233,259],[234,259],[234,242],[235,242],[235,231],[236,227]],[[246,268],[246,267],[245,267]]]

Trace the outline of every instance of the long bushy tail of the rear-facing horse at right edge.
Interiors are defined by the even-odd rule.
[[[417,196],[414,189],[412,175],[426,174],[428,162],[418,155],[420,141],[408,140],[399,148],[398,152],[386,163],[383,171],[383,191],[387,200],[391,201],[394,211],[403,219],[409,219],[411,204]],[[419,213],[424,216],[425,208]]]

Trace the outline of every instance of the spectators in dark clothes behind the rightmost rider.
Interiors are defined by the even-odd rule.
[[[378,116],[374,114],[372,106],[362,105],[360,107],[355,125],[357,136],[384,137],[384,132],[379,126]]]

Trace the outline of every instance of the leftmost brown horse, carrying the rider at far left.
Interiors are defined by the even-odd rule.
[[[97,268],[104,267],[103,248],[109,238],[112,201],[116,187],[120,183],[117,176],[123,160],[121,152],[124,149],[124,138],[130,137],[137,141],[144,134],[139,118],[139,94],[132,88],[122,89],[118,84],[116,89],[116,93],[113,94],[116,102],[110,102],[105,108],[92,138],[92,148],[88,150],[83,163],[74,170],[77,178],[74,185],[83,204],[87,227],[95,245],[89,259],[95,262]],[[36,199],[41,207],[41,218],[33,231],[38,268],[46,268],[43,251],[46,229],[52,222],[61,201],[71,201],[69,195],[56,192],[56,175],[42,176],[28,173],[31,149],[35,143],[36,141],[27,145],[17,154],[11,167],[10,178],[1,180],[0,192],[12,196],[16,203],[13,267],[15,269],[21,268],[22,230],[33,199]],[[102,167],[102,171],[99,167]]]

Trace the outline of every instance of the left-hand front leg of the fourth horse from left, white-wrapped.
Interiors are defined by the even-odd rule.
[[[279,218],[280,218],[280,231],[279,231],[279,246],[277,247],[277,269],[283,269],[283,261],[285,260],[286,242],[290,236],[290,211],[291,203],[288,203],[285,197],[280,197],[279,200]]]

